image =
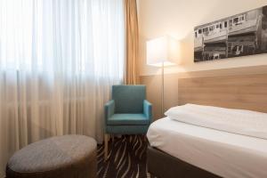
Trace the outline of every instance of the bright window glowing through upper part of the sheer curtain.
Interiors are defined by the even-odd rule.
[[[123,0],[103,2],[0,0],[0,70],[123,78]]]

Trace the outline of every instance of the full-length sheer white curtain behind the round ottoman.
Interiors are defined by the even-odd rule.
[[[102,139],[103,104],[123,80],[123,0],[0,0],[0,177],[45,137]]]

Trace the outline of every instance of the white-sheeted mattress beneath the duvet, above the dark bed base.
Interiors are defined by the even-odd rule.
[[[150,146],[229,178],[267,177],[267,140],[190,125],[168,117],[150,125]]]

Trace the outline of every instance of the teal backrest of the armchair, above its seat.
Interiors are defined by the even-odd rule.
[[[142,113],[146,99],[145,85],[113,85],[112,100],[115,113]]]

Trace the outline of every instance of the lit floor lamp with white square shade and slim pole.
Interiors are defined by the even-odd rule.
[[[147,65],[161,67],[161,115],[164,115],[164,68],[175,65],[178,59],[178,42],[170,36],[147,41]]]

